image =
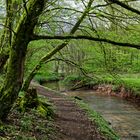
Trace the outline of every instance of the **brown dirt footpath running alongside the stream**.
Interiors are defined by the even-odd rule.
[[[58,129],[57,140],[104,140],[95,124],[71,99],[48,92],[43,86],[35,87],[56,106],[54,122]]]

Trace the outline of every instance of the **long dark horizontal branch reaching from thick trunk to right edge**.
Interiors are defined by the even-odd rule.
[[[57,40],[68,40],[68,39],[85,39],[90,41],[96,41],[96,42],[104,42],[109,43],[112,45],[118,45],[118,46],[125,46],[125,47],[132,47],[136,49],[140,49],[140,44],[132,44],[132,43],[126,43],[126,42],[117,42],[106,38],[97,38],[92,36],[84,36],[84,35],[68,35],[68,36],[41,36],[41,35],[34,35],[32,36],[32,40],[41,40],[41,39],[57,39]]]

